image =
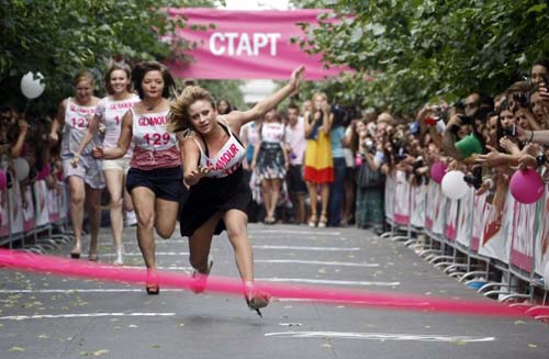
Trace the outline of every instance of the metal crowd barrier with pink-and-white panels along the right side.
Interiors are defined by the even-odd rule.
[[[463,199],[450,200],[438,183],[411,186],[394,171],[386,177],[384,200],[390,231],[382,238],[405,240],[479,293],[549,318],[549,283],[542,278],[549,261],[549,186],[534,204],[520,204],[507,193],[500,216],[488,195],[472,188]]]

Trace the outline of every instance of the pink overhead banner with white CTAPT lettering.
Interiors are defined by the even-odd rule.
[[[316,23],[316,16],[327,11],[170,9],[171,16],[188,19],[178,35],[197,46],[186,51],[192,56],[189,63],[166,64],[173,76],[195,79],[288,79],[300,65],[306,66],[306,80],[337,76],[340,69],[325,69],[322,56],[310,56],[291,43],[292,37],[305,36],[298,23]],[[193,25],[208,30],[193,30]]]

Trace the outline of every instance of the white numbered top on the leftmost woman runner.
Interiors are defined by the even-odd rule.
[[[63,127],[61,155],[70,156],[78,150],[83,135],[88,131],[88,117],[93,116],[96,106],[82,106],[67,99],[65,109],[65,126]],[[99,146],[99,136],[92,141],[82,150],[82,155],[89,155],[94,146]]]

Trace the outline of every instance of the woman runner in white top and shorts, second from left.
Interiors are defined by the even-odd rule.
[[[96,146],[102,145],[105,148],[116,146],[120,137],[122,119],[126,111],[131,110],[135,103],[139,101],[137,94],[131,92],[131,69],[125,64],[113,64],[104,75],[104,83],[108,97],[101,99],[96,108],[93,116],[86,135],[83,136],[80,147],[72,158],[71,165],[78,166],[81,153],[88,147],[91,138],[101,137],[102,144],[96,143]],[[126,173],[130,169],[130,158],[132,156],[132,147],[126,152],[123,158],[103,160],[103,176],[107,182],[107,189],[110,197],[110,220],[113,242],[115,246],[116,257],[114,265],[122,266],[123,246],[122,231],[124,229],[124,209],[127,216],[133,213],[133,203],[130,193],[124,189]]]

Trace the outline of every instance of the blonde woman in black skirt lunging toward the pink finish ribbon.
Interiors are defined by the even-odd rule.
[[[253,109],[223,116],[217,114],[210,92],[200,87],[187,87],[171,104],[169,116],[172,132],[191,131],[181,148],[183,180],[190,189],[179,221],[181,235],[189,237],[189,260],[195,278],[193,290],[204,290],[212,266],[209,259],[212,237],[226,229],[244,282],[246,302],[259,315],[259,308],[269,303],[269,295],[254,289],[254,260],[246,215],[251,191],[243,177],[246,149],[236,134],[240,133],[242,125],[265,115],[293,93],[303,70],[303,66],[295,69],[283,88]]]

